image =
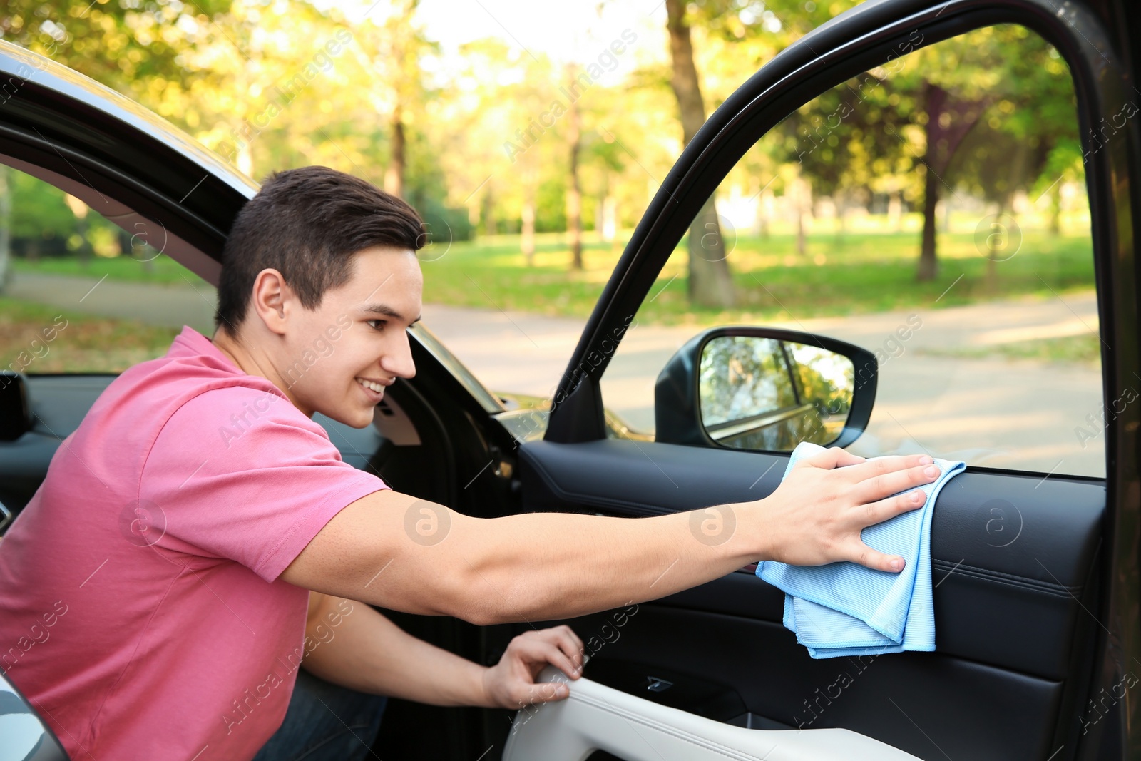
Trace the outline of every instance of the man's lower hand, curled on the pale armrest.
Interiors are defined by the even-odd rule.
[[[484,672],[486,705],[520,709],[531,703],[561,701],[570,695],[566,685],[535,682],[549,663],[570,679],[582,675],[582,640],[569,626],[528,631],[510,641],[500,662]]]

